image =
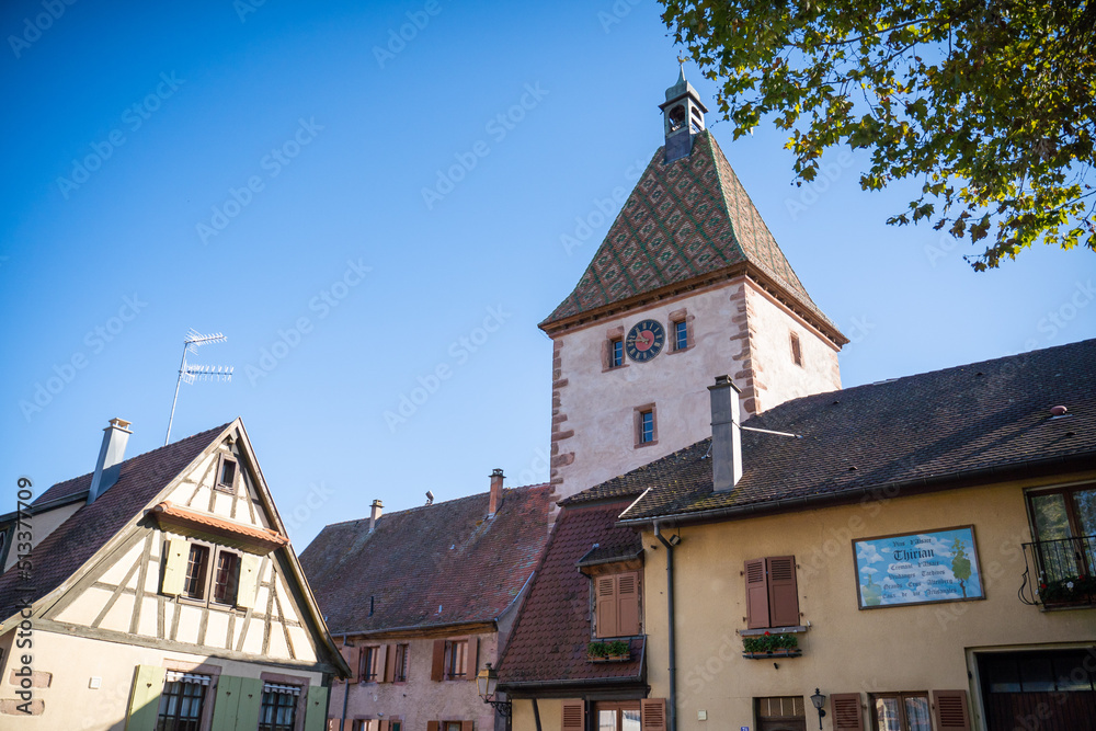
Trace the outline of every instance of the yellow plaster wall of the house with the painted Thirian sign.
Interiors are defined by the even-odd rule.
[[[1092,476],[1089,476],[1091,479]],[[1030,484],[1030,483],[1028,483]],[[968,689],[968,651],[1096,641],[1096,609],[1040,612],[1017,598],[1031,540],[1025,484],[895,496],[681,528],[675,552],[678,729],[755,728],[754,697]],[[984,601],[857,608],[852,540],[973,524]],[[644,534],[646,546],[657,542]],[[796,557],[802,656],[746,660],[743,562]],[[665,551],[648,550],[646,620],[652,697],[669,696]],[[867,695],[861,695],[867,703]],[[706,710],[708,720],[698,721]],[[809,726],[817,722],[808,703]],[[825,728],[830,729],[827,718]]]

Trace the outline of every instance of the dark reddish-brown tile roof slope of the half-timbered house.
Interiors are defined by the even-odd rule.
[[[19,598],[33,603],[60,586],[202,454],[229,424],[189,436],[122,462],[117,482],[95,502],[80,507],[35,546],[32,552],[31,581],[21,581],[16,567],[12,567],[0,576],[0,620],[11,617],[18,610]],[[58,482],[42,493],[35,503],[41,504],[71,495],[80,489],[87,490],[91,484],[91,477],[89,473]]]

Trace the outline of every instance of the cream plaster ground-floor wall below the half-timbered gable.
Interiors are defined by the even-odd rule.
[[[14,632],[15,630],[12,630]],[[0,639],[0,647],[11,641],[11,633]],[[261,673],[282,673],[308,678],[311,686],[322,682],[322,674],[312,671],[244,663],[206,655],[140,648],[69,635],[35,631],[33,661],[36,672],[52,673],[49,687],[34,688],[34,697],[45,701],[42,716],[0,716],[4,731],[123,731],[129,704],[129,693],[137,665],[162,666],[164,660],[219,665],[222,675],[259,677]],[[16,655],[18,658],[18,655]],[[11,653],[3,659],[0,699],[15,698],[11,671],[20,663]],[[92,677],[102,678],[102,686],[91,688]]]

